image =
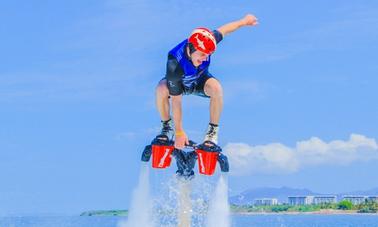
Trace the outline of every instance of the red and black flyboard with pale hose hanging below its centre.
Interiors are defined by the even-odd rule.
[[[198,163],[198,173],[211,176],[219,163],[221,172],[229,172],[229,163],[222,148],[212,142],[197,144],[189,141],[185,149],[174,147],[174,141],[167,136],[155,137],[142,153],[142,162],[149,162],[152,157],[152,168],[165,169],[170,167],[172,158],[176,160],[176,175],[179,186],[178,225],[188,227],[191,223],[190,180],[194,178],[194,168]]]

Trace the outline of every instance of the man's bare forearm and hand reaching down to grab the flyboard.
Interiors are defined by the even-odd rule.
[[[175,147],[183,149],[185,144],[188,144],[188,137],[186,136],[182,127],[182,95],[172,97],[172,113],[173,122],[175,124]]]

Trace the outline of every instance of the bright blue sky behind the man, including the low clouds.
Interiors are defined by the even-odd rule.
[[[259,26],[225,37],[210,68],[220,144],[250,161],[230,192],[378,187],[376,1],[3,1],[0,215],[127,208],[168,50],[248,12]],[[208,100],[184,105],[200,140]]]

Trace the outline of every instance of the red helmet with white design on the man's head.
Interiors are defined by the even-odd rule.
[[[207,28],[196,28],[190,34],[189,43],[193,44],[196,50],[206,54],[212,54],[217,48],[217,42],[213,33]]]

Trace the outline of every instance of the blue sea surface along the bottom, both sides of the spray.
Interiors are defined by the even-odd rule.
[[[1,217],[1,227],[117,227],[125,217]],[[159,225],[157,225],[159,226]],[[378,227],[378,215],[233,215],[235,227]]]

